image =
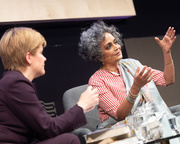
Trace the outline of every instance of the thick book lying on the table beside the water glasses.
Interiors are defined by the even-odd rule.
[[[131,130],[128,125],[118,125],[116,127],[97,130],[85,135],[87,144],[105,144],[105,141],[120,140],[131,136]],[[107,142],[106,142],[107,143]]]

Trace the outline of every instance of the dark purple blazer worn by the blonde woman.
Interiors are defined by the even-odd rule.
[[[50,117],[32,82],[18,71],[4,73],[0,80],[0,143],[28,143],[34,135],[48,139],[85,124],[83,110],[77,105]]]

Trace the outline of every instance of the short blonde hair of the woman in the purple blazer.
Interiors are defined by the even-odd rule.
[[[34,55],[46,46],[45,38],[36,30],[15,27],[7,30],[0,40],[0,57],[5,70],[20,70],[27,65],[26,54]]]

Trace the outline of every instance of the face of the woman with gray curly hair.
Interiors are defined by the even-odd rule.
[[[105,39],[101,42],[101,51],[103,54],[102,62],[114,63],[123,58],[121,46],[116,39],[110,34],[105,33]]]

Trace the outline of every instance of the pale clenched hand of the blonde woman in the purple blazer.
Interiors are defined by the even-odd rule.
[[[95,108],[99,103],[99,95],[97,89],[93,89],[92,86],[88,86],[85,92],[83,92],[77,102],[78,106],[82,107],[84,112],[88,112]]]

